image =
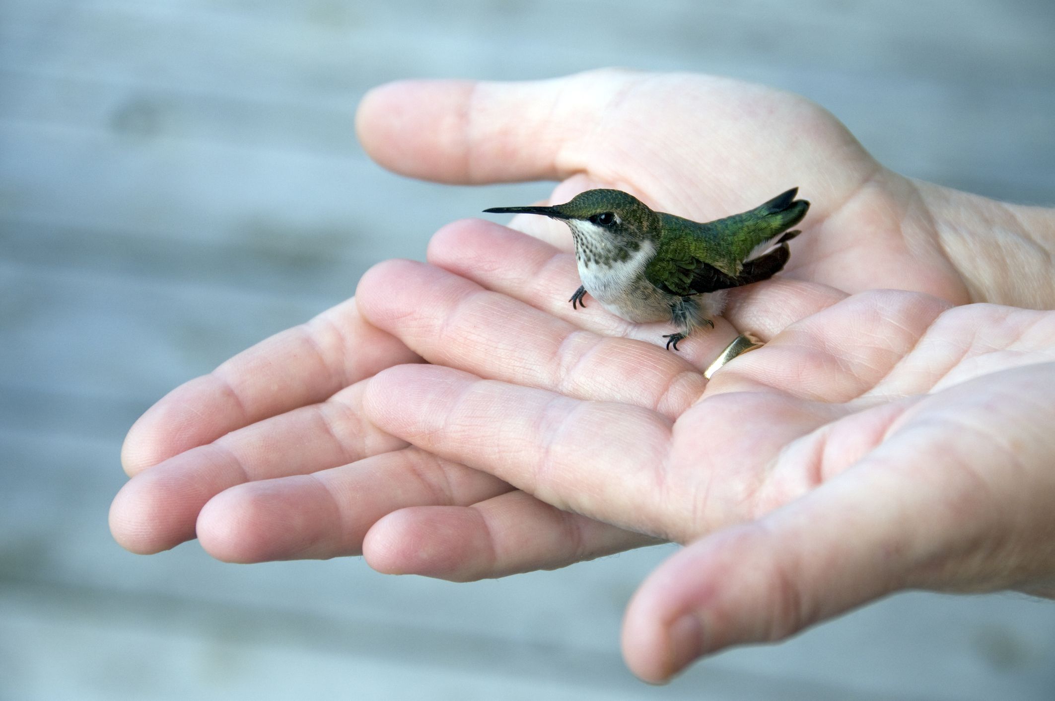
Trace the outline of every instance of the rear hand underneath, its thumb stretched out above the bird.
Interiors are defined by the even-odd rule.
[[[900,286],[954,302],[984,287],[964,282],[951,263],[956,242],[935,239],[932,205],[936,192],[946,191],[881,168],[826,112],[778,91],[706,76],[615,71],[531,83],[403,82],[371,93],[358,127],[371,155],[410,175],[472,183],[564,178],[554,192],[561,201],[587,187],[624,187],[701,220],[799,185],[813,207],[786,279],[756,286],[784,291],[768,304],[752,305],[755,293],[742,295],[747,302],[729,314],[738,328],[775,333],[838,295],[788,279],[850,291]],[[999,207],[989,219],[965,215],[997,224],[1006,216]],[[516,226],[567,249],[567,230],[538,219]],[[441,243],[466,226],[483,225],[449,229]],[[439,254],[444,246],[435,249]],[[493,254],[497,264],[487,254],[476,259],[477,272],[516,268],[505,266],[501,251]],[[1031,280],[1023,272],[1028,262],[1015,267],[1016,281]],[[488,284],[526,289],[545,279],[545,271],[540,274]],[[1003,284],[999,276],[994,281],[993,287]],[[569,283],[574,280],[560,278]],[[575,286],[539,291],[562,300]],[[1046,289],[1039,283],[1024,287]],[[533,303],[544,299],[538,295]],[[663,333],[596,314],[564,321],[650,342]],[[706,340],[683,344],[686,353],[666,362],[688,358],[698,370],[732,335],[733,327],[720,322]],[[506,342],[516,349],[516,338]],[[504,358],[516,362],[513,355]],[[365,321],[349,300],[177,387],[126,440],[122,462],[133,478],[111,510],[115,537],[133,551],[157,552],[199,536],[209,552],[237,562],[358,554],[365,542],[380,569],[449,579],[557,567],[651,542],[554,509],[373,427],[361,410],[365,381],[420,360]],[[427,360],[466,366],[442,354]],[[669,405],[660,409],[678,406],[678,393],[691,396],[702,385],[698,374],[682,373],[664,399]],[[469,514],[475,535],[449,541],[447,549],[416,548],[404,537],[411,522],[385,518],[406,507],[466,505],[473,512],[459,513]]]

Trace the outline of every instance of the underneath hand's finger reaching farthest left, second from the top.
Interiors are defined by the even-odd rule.
[[[328,401],[233,431],[135,475],[111,506],[114,538],[133,552],[167,550],[195,537],[198,513],[224,490],[404,448],[362,418],[363,389],[357,383]]]

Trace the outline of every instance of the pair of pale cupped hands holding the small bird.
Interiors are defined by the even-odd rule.
[[[151,408],[124,547],[464,581],[674,539],[625,625],[653,682],[899,588],[1055,591],[1055,312],[953,307],[1055,307],[1050,211],[909,181],[807,100],[707,76],[395,83],[358,127],[398,172],[559,179],[553,202],[616,187],[703,221],[799,186],[812,207],[783,278],[678,354],[567,304],[561,225],[446,227],[430,265],[379,265]],[[737,330],[769,343],[708,383]]]

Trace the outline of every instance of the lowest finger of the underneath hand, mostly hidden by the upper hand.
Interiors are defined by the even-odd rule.
[[[363,554],[370,567],[387,574],[472,582],[556,569],[656,543],[514,491],[467,508],[392,512],[367,533]]]

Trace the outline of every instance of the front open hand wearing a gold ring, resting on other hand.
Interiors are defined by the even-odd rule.
[[[449,228],[430,259],[376,267],[359,303],[446,366],[380,373],[365,416],[522,490],[495,504],[531,494],[686,544],[628,609],[641,678],[898,589],[1055,594],[1055,312],[771,281],[729,315],[768,342],[708,383],[731,325],[684,354],[622,338],[652,329],[573,310],[552,293],[574,283],[572,257],[490,225]],[[479,522],[400,510],[379,555],[443,551],[465,579]]]

